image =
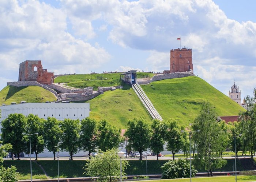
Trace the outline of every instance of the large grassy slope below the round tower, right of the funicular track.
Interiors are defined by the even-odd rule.
[[[238,115],[244,108],[197,76],[166,79],[141,85],[163,119],[174,118],[191,123],[200,111],[200,102],[208,101],[219,116]]]

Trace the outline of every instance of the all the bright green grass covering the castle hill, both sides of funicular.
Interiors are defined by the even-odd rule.
[[[92,76],[95,76],[95,79],[102,75],[111,75],[113,79],[82,81],[82,79],[86,79],[90,76],[90,74],[84,74],[59,76],[55,79],[55,82],[71,80],[69,84],[76,84],[76,87],[78,87],[77,83],[81,82],[83,84],[86,83],[86,86],[94,86],[94,88],[119,84],[116,84],[116,81],[113,82],[113,80],[120,78],[119,73],[92,74]],[[138,75],[140,78],[145,75],[153,76],[153,74],[142,72],[139,72]],[[141,87],[163,119],[174,118],[177,119],[180,124],[187,125],[193,122],[197,114],[199,114],[200,103],[203,101],[212,103],[216,107],[219,116],[238,115],[240,111],[244,111],[244,108],[239,106],[228,96],[222,94],[197,76],[166,79],[147,85],[141,85]],[[27,100],[28,102],[46,102],[56,100],[56,98],[51,92],[37,86],[7,86],[0,91],[0,103],[19,103],[21,100]],[[118,128],[127,128],[128,120],[134,117],[142,116],[151,120],[143,104],[128,85],[125,85],[123,89],[104,92],[104,94],[87,102],[90,103],[90,117],[97,120],[106,119]]]

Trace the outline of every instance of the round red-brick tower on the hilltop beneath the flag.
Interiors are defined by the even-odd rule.
[[[170,51],[170,73],[193,70],[192,49],[178,48]]]

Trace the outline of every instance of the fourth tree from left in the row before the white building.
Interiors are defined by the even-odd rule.
[[[69,152],[71,160],[73,160],[73,154],[78,152],[80,127],[78,119],[64,119],[60,123],[60,128],[63,131],[60,148]]]

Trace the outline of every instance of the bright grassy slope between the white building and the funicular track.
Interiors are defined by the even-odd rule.
[[[123,90],[106,91],[87,103],[90,103],[90,118],[106,119],[117,128],[127,128],[128,121],[134,117],[151,121],[146,108],[128,85]]]

